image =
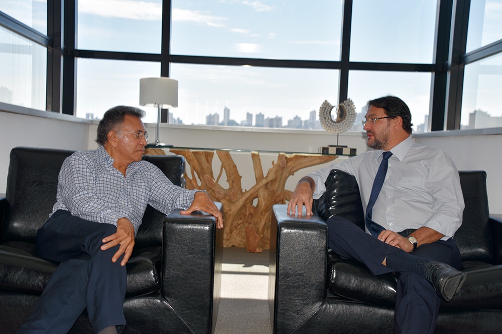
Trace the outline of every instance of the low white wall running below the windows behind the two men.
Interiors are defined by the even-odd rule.
[[[150,142],[155,140],[154,124],[147,124]],[[94,149],[97,122],[72,122],[44,117],[20,115],[0,111],[0,131],[4,135],[0,147],[0,193],[5,192],[9,153],[15,146],[65,148],[74,150]],[[212,130],[211,130],[212,129]],[[269,132],[250,129],[221,129],[187,127],[163,124],[160,141],[180,147],[230,148],[259,151],[317,152],[319,146],[336,144],[336,135],[324,131],[280,130]],[[477,130],[476,130],[477,131]],[[502,131],[449,131],[415,136],[418,143],[445,150],[459,170],[485,170],[488,175],[490,212],[502,213]],[[476,135],[477,133],[477,135]],[[490,133],[490,134],[485,134]],[[495,134],[491,134],[495,133]],[[339,137],[340,145],[366,151],[365,136],[361,133],[345,133]],[[253,185],[254,171],[247,153],[232,153],[242,175],[242,186]],[[261,153],[263,170],[272,167],[277,153]],[[293,190],[296,182],[311,170],[324,166],[305,168],[289,178],[286,189]],[[213,171],[219,171],[219,161],[213,158]]]

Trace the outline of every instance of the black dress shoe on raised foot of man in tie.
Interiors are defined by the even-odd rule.
[[[441,298],[450,301],[460,290],[466,274],[446,263],[429,262],[425,265],[424,276]]]

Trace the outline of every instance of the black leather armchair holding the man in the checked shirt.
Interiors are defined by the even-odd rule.
[[[58,174],[73,151],[17,147],[0,198],[0,331],[14,333],[31,313],[57,263],[36,254],[36,233],[56,201]],[[180,156],[145,156],[184,186]],[[221,203],[217,203],[220,210]],[[209,333],[221,284],[222,231],[205,213],[165,216],[148,206],[127,264],[124,333]],[[70,331],[90,333],[84,311]]]

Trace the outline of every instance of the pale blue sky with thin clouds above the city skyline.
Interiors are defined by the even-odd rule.
[[[30,6],[35,9],[43,2],[3,3],[0,10],[46,29],[45,18],[26,15],[31,13]],[[474,2],[478,3],[482,2]],[[308,6],[300,0],[173,0],[172,4],[172,54],[339,60],[341,1],[317,0]],[[485,8],[476,10],[486,12],[486,17],[469,22],[474,27],[470,41],[481,40],[484,45],[502,38],[502,0],[487,0]],[[161,15],[161,0],[79,0],[77,48],[160,53]],[[435,20],[435,0],[354,0],[350,60],[430,64]],[[468,41],[468,47],[479,45]],[[502,65],[500,58],[485,64]],[[464,97],[469,109],[462,123],[477,108],[500,116],[500,75],[482,73],[482,68],[474,66],[468,72],[476,80],[469,81],[474,87]],[[156,63],[80,59],[77,116],[93,113],[100,117],[118,104],[140,107],[140,78],[159,75]],[[171,113],[185,124],[205,124],[206,116],[214,113],[222,121],[227,107],[237,123],[245,120],[246,113],[262,113],[266,118],[282,117],[286,125],[295,116],[308,119],[324,100],[331,104],[338,100],[337,70],[172,64],[170,77],[179,81],[179,104]],[[431,81],[430,73],[351,71],[348,97],[360,111],[370,99],[399,96],[410,106],[413,123],[418,125],[429,113]],[[156,109],[142,108],[147,111],[145,122],[155,122]]]

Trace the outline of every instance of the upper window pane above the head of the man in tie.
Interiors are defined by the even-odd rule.
[[[350,60],[433,62],[436,0],[354,0]]]

